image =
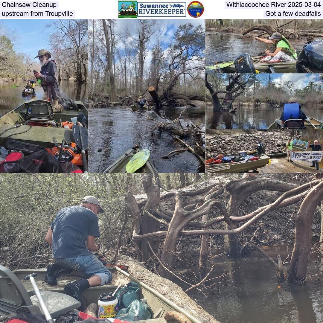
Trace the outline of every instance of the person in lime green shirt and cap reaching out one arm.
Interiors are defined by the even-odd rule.
[[[295,61],[297,59],[297,53],[292,44],[282,36],[280,33],[273,33],[268,39],[255,37],[255,39],[262,41],[268,45],[273,44],[275,51],[271,53],[266,49],[267,56],[262,58],[260,62],[269,62],[269,61]]]

